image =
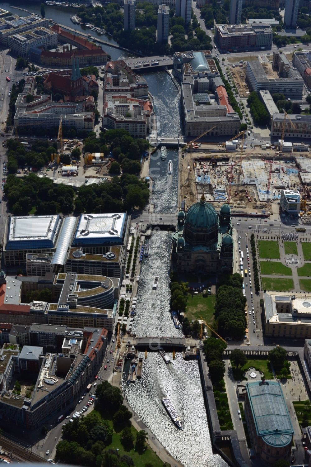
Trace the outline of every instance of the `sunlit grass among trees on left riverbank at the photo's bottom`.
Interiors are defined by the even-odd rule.
[[[105,418],[103,413],[101,412],[98,412],[98,413],[102,416],[102,418],[107,420],[111,428],[113,428],[112,420],[110,420],[109,418]],[[134,439],[136,439],[137,430],[135,430],[135,428],[132,425],[131,425],[131,432],[134,435]],[[120,436],[121,436],[121,432],[117,433],[113,431],[112,442],[109,446],[107,446],[106,449],[113,449],[113,450],[118,449],[120,457],[122,457],[124,454],[130,456],[135,464],[135,467],[145,467],[145,465],[148,463],[152,464],[152,466],[154,467],[164,467],[164,463],[162,462],[162,460],[157,456],[156,453],[152,451],[152,449],[148,445],[146,445],[147,449],[145,453],[143,454],[138,454],[138,452],[135,451],[134,448],[132,448],[130,451],[125,451],[124,447],[121,444]]]

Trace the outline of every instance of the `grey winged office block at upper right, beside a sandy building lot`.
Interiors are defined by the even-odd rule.
[[[284,73],[286,77],[283,78],[281,76]],[[283,70],[282,75],[276,74],[274,78],[268,78],[259,60],[247,63],[246,79],[253,91],[259,93],[260,90],[267,90],[271,94],[282,93],[289,99],[301,99],[304,80],[299,72],[292,67],[286,67],[286,71]]]

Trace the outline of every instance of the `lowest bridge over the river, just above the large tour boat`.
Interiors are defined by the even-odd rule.
[[[187,347],[198,347],[199,341],[194,339],[185,339],[180,337],[131,337],[127,341],[129,346],[134,346],[147,352],[157,352],[160,347],[166,350],[177,352],[184,351]]]

